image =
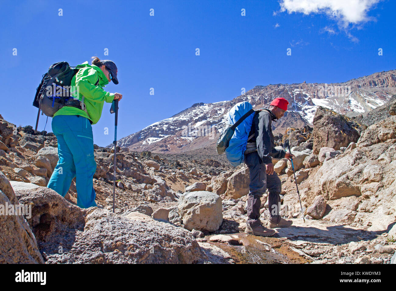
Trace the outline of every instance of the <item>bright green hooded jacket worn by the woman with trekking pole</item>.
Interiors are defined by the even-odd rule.
[[[81,67],[81,69],[72,78],[72,82],[70,85],[78,86],[78,100],[81,101],[82,97],[85,97],[84,104],[86,106],[88,114],[80,108],[64,106],[59,109],[53,116],[55,117],[57,115],[80,115],[91,120],[92,124],[96,124],[102,115],[103,103],[105,101],[107,103],[112,103],[112,101],[114,100],[114,93],[109,93],[103,90],[102,87],[105,87],[105,85],[109,84],[109,81],[99,67],[95,65],[88,65],[88,62],[78,65],[77,67]],[[98,80],[99,83],[97,83]],[[77,97],[76,93],[74,93],[73,96]]]

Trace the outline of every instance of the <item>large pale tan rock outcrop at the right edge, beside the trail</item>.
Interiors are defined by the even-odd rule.
[[[310,177],[310,192],[322,195],[327,204],[343,197],[359,198],[354,210],[333,209],[326,217],[331,217],[333,211],[345,212],[348,221],[376,231],[386,230],[396,221],[395,128],[396,116],[369,126],[355,149],[324,162]]]

